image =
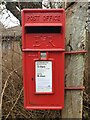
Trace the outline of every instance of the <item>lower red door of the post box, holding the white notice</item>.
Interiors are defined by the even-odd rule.
[[[27,109],[62,109],[64,106],[64,54],[49,52],[38,59],[38,52],[24,54],[24,105]]]

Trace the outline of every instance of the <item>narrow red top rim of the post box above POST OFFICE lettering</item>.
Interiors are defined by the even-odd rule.
[[[58,9],[23,9],[22,12],[65,12],[64,8]]]

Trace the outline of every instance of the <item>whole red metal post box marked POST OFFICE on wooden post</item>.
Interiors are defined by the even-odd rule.
[[[64,9],[22,11],[24,106],[64,107]]]

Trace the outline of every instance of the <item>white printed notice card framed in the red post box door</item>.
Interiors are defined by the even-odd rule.
[[[36,92],[52,92],[52,61],[35,62]]]

